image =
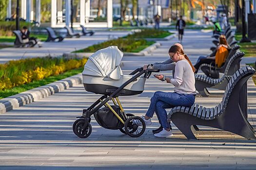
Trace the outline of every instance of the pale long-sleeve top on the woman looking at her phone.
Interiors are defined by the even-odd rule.
[[[175,85],[174,92],[180,94],[197,94],[195,87],[195,75],[187,60],[176,63],[174,78],[171,84]]]

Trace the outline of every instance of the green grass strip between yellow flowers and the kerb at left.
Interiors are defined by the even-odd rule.
[[[33,88],[36,88],[36,87],[39,87],[42,85],[47,85],[49,83],[53,83],[58,80],[76,75],[78,73],[81,73],[82,70],[83,70],[83,68],[73,69],[73,70],[66,71],[62,74],[59,74],[57,76],[50,76],[45,79],[33,81],[33,82],[25,84],[25,85],[16,86],[11,89],[1,90],[0,91],[0,99],[15,95],[15,94],[19,94],[21,92],[24,92],[24,91],[27,91],[27,90],[30,90],[30,89],[33,89]]]

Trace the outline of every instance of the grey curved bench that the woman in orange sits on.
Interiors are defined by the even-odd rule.
[[[200,68],[202,71],[203,70],[207,70],[209,71],[210,67],[212,70],[217,70],[218,72],[224,73],[228,64],[228,61],[231,59],[231,57],[236,53],[237,50],[239,50],[240,46],[239,45],[235,45],[234,47],[232,47],[232,49],[229,51],[229,54],[227,56],[226,62],[224,63],[223,66],[221,66],[220,68],[216,68],[213,65],[209,65],[209,64],[201,64]],[[234,65],[234,67],[236,68],[236,70],[238,68],[240,68],[240,62],[236,63],[236,65]],[[203,71],[204,72],[204,71]]]

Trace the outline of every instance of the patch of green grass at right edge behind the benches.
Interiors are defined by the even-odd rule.
[[[236,41],[240,41],[242,39],[242,34],[235,34]],[[237,43],[240,47],[240,51],[245,53],[245,57],[256,57],[256,43],[253,42],[244,42]]]

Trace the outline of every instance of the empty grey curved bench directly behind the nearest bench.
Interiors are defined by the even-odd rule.
[[[244,56],[244,52],[236,52],[229,60],[224,75],[221,78],[213,79],[211,77],[208,77],[206,75],[202,74],[196,74],[195,75],[195,86],[197,91],[202,96],[208,96],[210,95],[207,88],[216,88],[219,90],[225,90],[229,78],[228,76],[232,76],[236,70],[239,68],[236,68],[236,63],[240,62],[241,58]]]

